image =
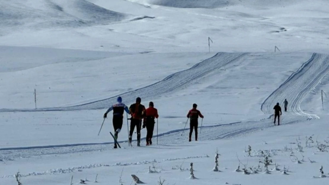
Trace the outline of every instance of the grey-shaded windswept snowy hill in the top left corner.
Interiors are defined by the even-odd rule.
[[[126,17],[124,13],[107,10],[85,0],[13,1],[0,2],[0,34],[5,32],[6,28],[41,29],[104,25],[121,21]]]

